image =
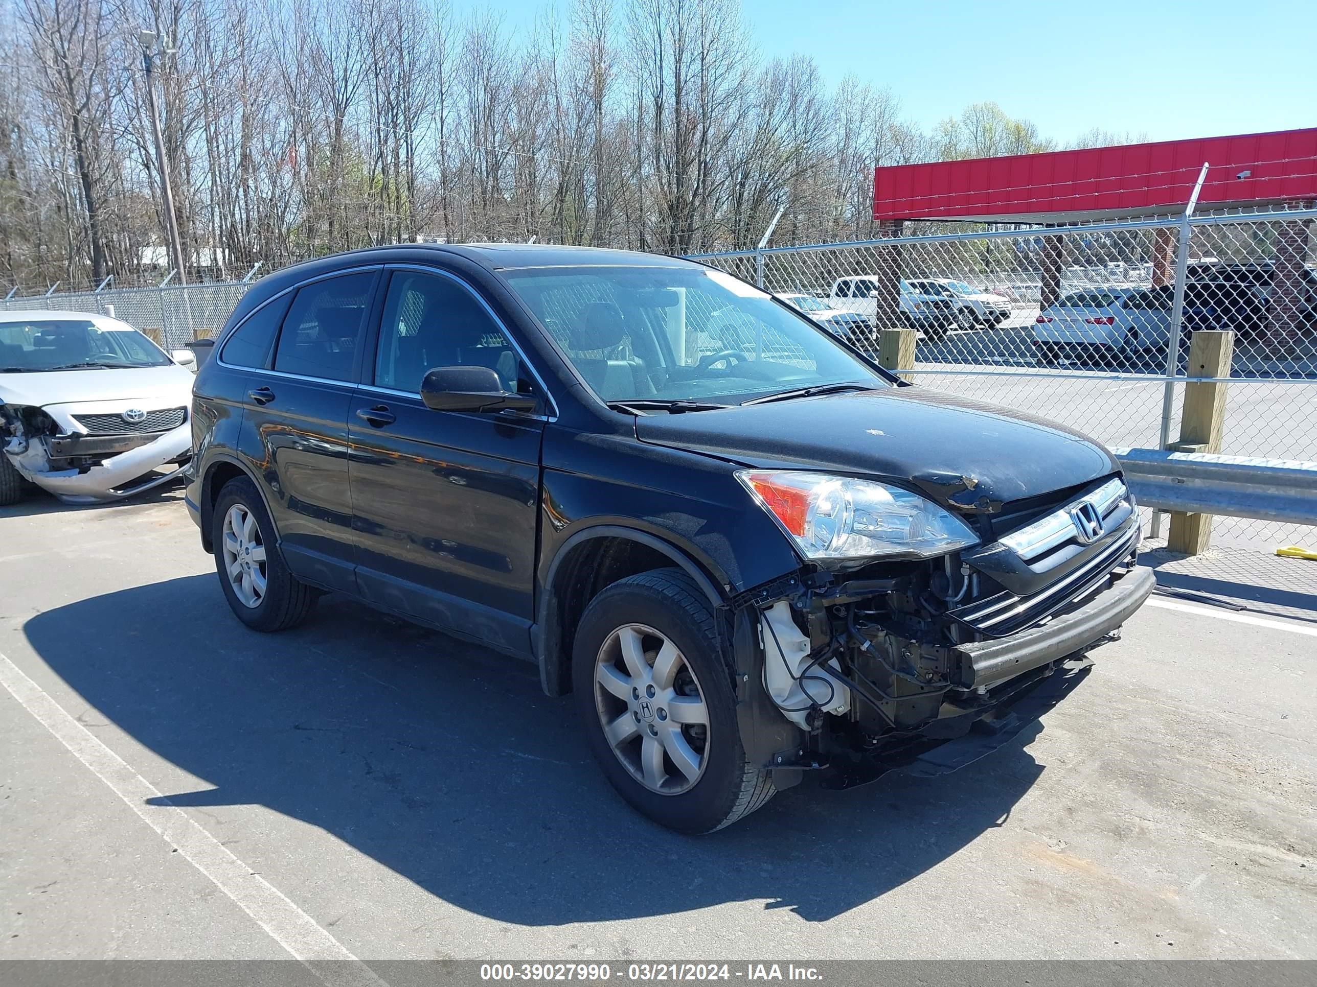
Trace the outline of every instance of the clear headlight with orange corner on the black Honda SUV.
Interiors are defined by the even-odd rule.
[[[736,479],[806,558],[930,558],[979,544],[950,511],[886,483],[794,470],[741,470]]]

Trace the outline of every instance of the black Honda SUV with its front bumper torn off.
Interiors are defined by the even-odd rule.
[[[969,759],[1152,587],[1098,443],[664,257],[279,271],[192,421],[188,508],[244,624],[341,592],[535,662],[622,796],[686,832],[806,772]]]

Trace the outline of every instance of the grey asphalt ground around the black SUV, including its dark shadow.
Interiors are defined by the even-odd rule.
[[[686,838],[529,666],[248,632],[178,491],[0,509],[0,957],[1317,958],[1312,612],[1154,597],[989,758]]]

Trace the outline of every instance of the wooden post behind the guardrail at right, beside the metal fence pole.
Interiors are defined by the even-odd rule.
[[[1196,332],[1189,343],[1188,376],[1230,376],[1234,355],[1234,333],[1218,329]],[[1171,449],[1179,453],[1220,453],[1226,418],[1226,384],[1188,383],[1184,386],[1184,411],[1180,413],[1180,441]],[[1171,533],[1166,547],[1185,555],[1198,555],[1212,544],[1212,515],[1171,512]]]

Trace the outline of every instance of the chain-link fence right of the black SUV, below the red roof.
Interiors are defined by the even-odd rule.
[[[1193,333],[1233,333],[1220,451],[1317,459],[1314,209],[893,237],[693,259],[784,296],[871,353],[917,333],[914,379],[1109,446],[1180,437]],[[1312,530],[1217,519],[1218,544]]]

